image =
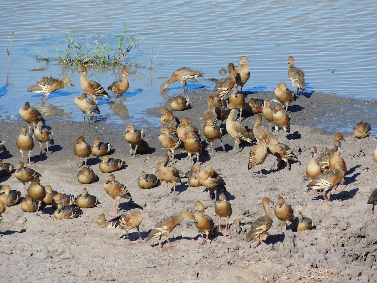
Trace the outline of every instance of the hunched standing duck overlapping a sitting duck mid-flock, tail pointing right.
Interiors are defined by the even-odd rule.
[[[196,170],[193,172],[193,177],[198,178],[199,182],[202,186],[205,186],[208,190],[208,195],[211,198],[211,191],[213,190],[215,193],[215,201],[216,201],[216,193],[219,189],[222,189],[223,191],[227,191],[225,187],[225,181],[222,179],[222,177],[218,174],[218,172],[215,171],[210,166],[207,166],[204,171]]]

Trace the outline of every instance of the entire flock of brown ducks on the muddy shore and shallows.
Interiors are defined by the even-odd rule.
[[[158,185],[159,180],[164,180],[166,183],[166,193],[168,194],[169,183],[173,184],[173,192],[176,191],[176,183],[181,182],[181,177],[187,177],[187,183],[189,186],[198,187],[204,186],[208,190],[208,194],[211,198],[211,193],[214,193],[214,199],[216,201],[217,191],[222,190],[224,193],[219,195],[219,201],[215,203],[215,213],[219,220],[218,228],[214,224],[211,217],[203,214],[204,205],[201,201],[197,201],[194,205],[195,214],[190,211],[181,212],[178,215],[162,218],[159,220],[149,233],[149,236],[145,241],[149,241],[152,238],[159,238],[159,248],[162,248],[162,236],[166,236],[166,240],[171,246],[177,243],[171,243],[169,241],[169,233],[184,220],[184,218],[195,219],[195,225],[202,235],[203,244],[207,245],[208,235],[215,235],[218,231],[223,235],[229,235],[228,232],[228,220],[232,214],[232,208],[229,201],[227,201],[225,193],[226,184],[221,175],[215,171],[214,168],[207,166],[204,170],[199,166],[199,157],[202,154],[202,141],[201,133],[210,143],[211,152],[210,155],[214,155],[213,142],[220,140],[223,151],[225,151],[224,144],[222,143],[222,123],[226,120],[225,129],[227,133],[234,138],[234,152],[237,153],[240,150],[241,140],[248,143],[256,143],[251,150],[248,160],[248,169],[253,170],[254,167],[259,165],[259,177],[262,175],[262,165],[270,153],[273,154],[278,161],[277,168],[280,169],[286,165],[286,168],[290,170],[290,162],[297,161],[297,156],[291,150],[291,148],[284,143],[280,143],[278,140],[279,130],[284,131],[284,137],[287,132],[290,132],[290,117],[287,114],[288,106],[293,100],[299,97],[298,91],[306,91],[305,88],[305,74],[302,69],[294,66],[294,59],[292,56],[288,58],[288,78],[290,79],[294,91],[287,88],[284,82],[280,82],[274,91],[277,100],[262,100],[250,98],[248,102],[245,102],[245,97],[242,94],[242,88],[250,77],[249,67],[246,63],[248,58],[242,56],[240,59],[240,66],[235,67],[233,63],[228,65],[228,77],[218,80],[213,93],[208,97],[208,110],[204,112],[201,119],[201,131],[192,125],[190,118],[185,117],[178,119],[175,117],[172,111],[182,111],[189,108],[189,97],[177,95],[171,102],[170,108],[165,107],[161,110],[159,117],[161,122],[161,134],[158,136],[158,140],[161,145],[167,150],[167,154],[164,155],[161,162],[159,162],[153,168],[153,174],[147,174],[145,171],[140,173],[137,179],[139,188],[150,189]],[[78,108],[83,112],[84,120],[86,113],[90,116],[92,113],[100,114],[100,109],[97,106],[99,96],[110,97],[105,89],[98,82],[87,80],[87,69],[81,65],[78,68],[78,72],[82,72],[80,77],[80,84],[84,93],[80,97],[75,98],[75,103]],[[128,70],[124,68],[122,71],[122,80],[112,83],[107,89],[114,92],[115,97],[122,95],[129,88],[127,80]],[[187,81],[193,78],[203,77],[201,72],[195,71],[188,67],[182,67],[173,72],[171,78],[161,85],[161,90],[166,89],[171,83],[181,82],[181,93],[187,90]],[[64,88],[66,84],[71,86],[72,82],[68,78],[59,80],[55,77],[48,76],[43,77],[37,81],[36,85],[28,88],[29,92],[37,92],[43,95],[48,95],[51,92]],[[183,84],[185,88],[183,89]],[[240,87],[240,92],[238,91]],[[297,87],[297,90],[296,90]],[[229,97],[225,97],[229,94]],[[90,95],[92,99],[88,98]],[[277,102],[273,107],[271,102]],[[281,104],[280,104],[281,103]],[[239,121],[234,120],[236,116],[236,110],[239,111]],[[257,114],[256,122],[253,129],[249,129],[247,126],[241,123],[242,113]],[[51,186],[43,186],[40,184],[41,174],[34,169],[25,166],[24,152],[28,152],[28,162],[31,162],[31,151],[34,148],[34,138],[40,143],[40,154],[42,155],[42,143],[46,143],[46,156],[48,156],[48,146],[54,145],[54,137],[51,130],[44,127],[45,120],[40,112],[31,107],[29,102],[25,103],[25,106],[20,108],[20,116],[28,124],[29,129],[23,126],[20,131],[20,135],[17,137],[16,145],[20,149],[22,161],[18,162],[17,169],[14,172],[14,176],[23,183],[24,198],[21,201],[21,209],[25,212],[37,212],[40,210],[42,203],[51,205],[55,209],[54,217],[57,219],[75,218],[83,213],[82,208],[93,208],[97,205],[97,197],[88,194],[86,188],[82,193],[75,197],[74,195],[65,195],[52,190]],[[264,117],[269,123],[269,129],[261,125],[262,117]],[[83,122],[84,122],[83,120]],[[217,125],[218,120],[221,121],[220,126]],[[275,135],[272,134],[272,124],[274,124]],[[34,125],[33,135],[31,135],[31,124]],[[365,138],[371,132],[371,127],[368,123],[360,122],[354,128],[354,134],[357,138]],[[33,138],[34,137],[34,138]],[[125,132],[125,140],[129,143],[130,155],[135,158],[136,154],[143,154],[149,151],[149,145],[144,138],[143,129],[136,129],[134,125],[128,125]],[[314,192],[322,192],[323,198],[326,203],[329,202],[329,193],[334,188],[342,183],[344,189],[344,176],[346,174],[345,160],[340,157],[341,142],[344,141],[341,133],[336,133],[334,136],[334,148],[326,149],[321,154],[317,155],[317,148],[313,146],[311,148],[312,158],[309,165],[306,168],[306,174],[310,179],[310,183],[307,185],[308,190]],[[0,141],[0,151],[6,151],[4,142]],[[85,141],[85,138],[80,136],[74,145],[74,154],[77,157],[77,170],[80,170],[78,163],[79,158],[85,158],[84,167],[78,172],[78,181],[81,184],[90,184],[96,180],[96,175],[93,169],[86,167],[87,158],[92,154],[95,157],[103,157],[100,163],[100,171],[103,173],[113,173],[122,169],[125,162],[123,158],[115,159],[110,158],[111,145],[109,143],[101,142],[99,138],[96,138],[93,146]],[[184,150],[187,152],[190,158],[192,167],[189,172],[182,172],[175,168],[175,151]],[[196,156],[196,164],[192,158],[192,155]],[[373,160],[377,165],[377,148],[373,154]],[[10,163],[4,163],[0,160],[0,176],[5,176],[13,173],[13,165]],[[26,183],[30,183],[26,194]],[[18,203],[21,197],[21,192],[12,191],[9,185],[2,185],[0,191],[0,223],[2,221],[1,213],[5,211],[6,206],[14,206]],[[115,181],[115,175],[108,175],[108,179],[103,185],[104,191],[113,198],[113,212],[111,213],[114,218],[106,220],[104,214],[100,215],[98,220],[93,221],[92,225],[98,228],[112,228],[120,227],[126,231],[127,239],[129,239],[128,231],[136,228],[139,234],[139,241],[144,243],[141,238],[139,225],[143,220],[143,214],[138,211],[129,211],[124,214],[118,215],[118,207],[122,198],[132,200],[131,194],[127,187]],[[326,197],[327,195],[327,197]],[[273,223],[273,217],[269,208],[269,204],[273,203],[270,198],[263,198],[262,205],[265,210],[265,215],[257,218],[251,223],[248,231],[246,241],[259,241],[264,244],[264,240],[268,236],[268,230]],[[372,193],[368,200],[368,203],[372,204],[372,212],[374,205],[377,204],[377,189]],[[74,205],[75,204],[75,205]],[[310,218],[304,217],[302,212],[298,213],[298,217],[294,217],[293,209],[290,205],[285,203],[283,197],[279,197],[277,205],[274,207],[274,214],[280,221],[280,233],[282,233],[283,223],[288,225],[289,222],[293,223],[293,229],[296,231],[302,231],[305,229],[313,229],[314,224]],[[225,218],[225,228],[222,228],[221,220]],[[234,223],[241,224],[239,220],[235,220]],[[206,235],[204,238],[204,234]],[[131,242],[129,241],[129,244]]]

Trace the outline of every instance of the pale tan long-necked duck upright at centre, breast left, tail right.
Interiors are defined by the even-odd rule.
[[[233,103],[230,103],[228,108],[231,110],[227,122],[225,123],[225,128],[227,129],[228,134],[234,138],[234,152],[239,152],[240,141],[244,140],[248,143],[253,143],[253,137],[249,134],[242,123],[234,121],[236,106]]]

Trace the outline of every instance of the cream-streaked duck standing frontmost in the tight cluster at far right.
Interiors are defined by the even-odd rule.
[[[319,174],[317,178],[311,181],[307,187],[308,191],[323,191],[322,195],[326,203],[329,203],[330,193],[329,191],[334,186],[337,186],[345,175],[345,168],[342,161],[338,161],[334,165],[334,170],[326,169],[322,174]],[[314,193],[314,192],[313,192]],[[330,203],[329,203],[330,204]]]

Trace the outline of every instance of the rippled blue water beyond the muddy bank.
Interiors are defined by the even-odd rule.
[[[147,117],[144,109],[158,106],[166,95],[179,92],[180,84],[161,92],[159,86],[172,72],[189,66],[204,72],[205,78],[189,82],[188,88],[215,83],[207,78],[220,78],[219,69],[229,62],[238,63],[247,55],[250,80],[246,91],[272,91],[279,82],[291,84],[287,77],[288,56],[305,72],[308,91],[337,93],[345,97],[375,98],[377,72],[377,6],[372,1],[264,1],[252,3],[228,1],[120,1],[87,0],[18,1],[0,3],[0,120],[21,121],[18,109],[25,101],[37,107],[48,121],[81,121],[82,113],[74,97],[82,93],[77,66],[63,68],[57,62],[36,60],[38,52],[56,58],[56,49],[64,51],[66,34],[75,30],[79,42],[116,44],[116,35],[124,34],[126,24],[137,38],[149,35],[144,43],[130,51],[130,60],[147,62],[151,52],[161,49],[152,70],[149,62],[130,70],[130,88],[126,99],[100,99],[105,123],[158,124]],[[8,37],[14,31],[9,44]],[[43,68],[43,71],[30,71]],[[105,88],[120,77],[119,68],[88,67],[88,78]],[[331,71],[335,71],[332,73]],[[26,89],[45,75],[69,77],[74,88],[49,96],[41,102],[39,94]],[[110,94],[111,95],[111,94]]]

